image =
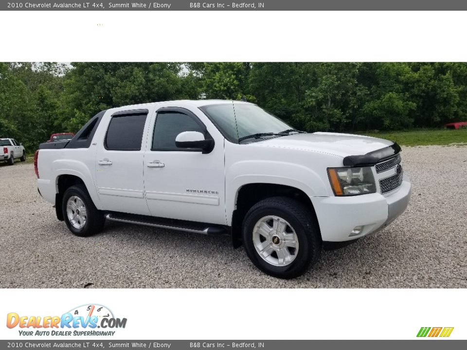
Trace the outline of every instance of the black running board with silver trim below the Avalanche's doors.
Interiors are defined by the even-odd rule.
[[[106,219],[110,221],[123,222],[133,225],[144,225],[166,229],[173,229],[184,232],[201,233],[207,235],[227,234],[228,230],[222,226],[210,226],[210,224],[195,223],[191,221],[156,218],[144,215],[131,214],[106,214]]]

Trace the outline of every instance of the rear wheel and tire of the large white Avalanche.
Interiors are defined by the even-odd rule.
[[[84,185],[75,185],[65,191],[62,213],[68,228],[76,236],[91,236],[104,228],[106,219],[103,213],[96,209]]]

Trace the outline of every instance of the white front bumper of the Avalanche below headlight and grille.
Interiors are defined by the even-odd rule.
[[[388,226],[407,208],[410,190],[411,184],[404,175],[398,191],[386,197],[380,193],[311,197],[323,241],[351,241]],[[352,230],[357,226],[363,228],[359,234],[352,235]]]

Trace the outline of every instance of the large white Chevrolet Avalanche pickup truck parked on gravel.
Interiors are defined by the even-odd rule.
[[[35,170],[75,235],[106,219],[230,234],[259,269],[292,278],[406,209],[399,153],[388,140],[294,130],[251,103],[172,101],[98,113],[72,140],[42,143]]]

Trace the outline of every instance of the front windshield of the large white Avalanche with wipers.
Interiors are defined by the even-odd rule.
[[[290,125],[257,105],[219,104],[205,105],[200,109],[216,124],[226,139],[232,142],[253,134],[276,134],[292,129]]]

